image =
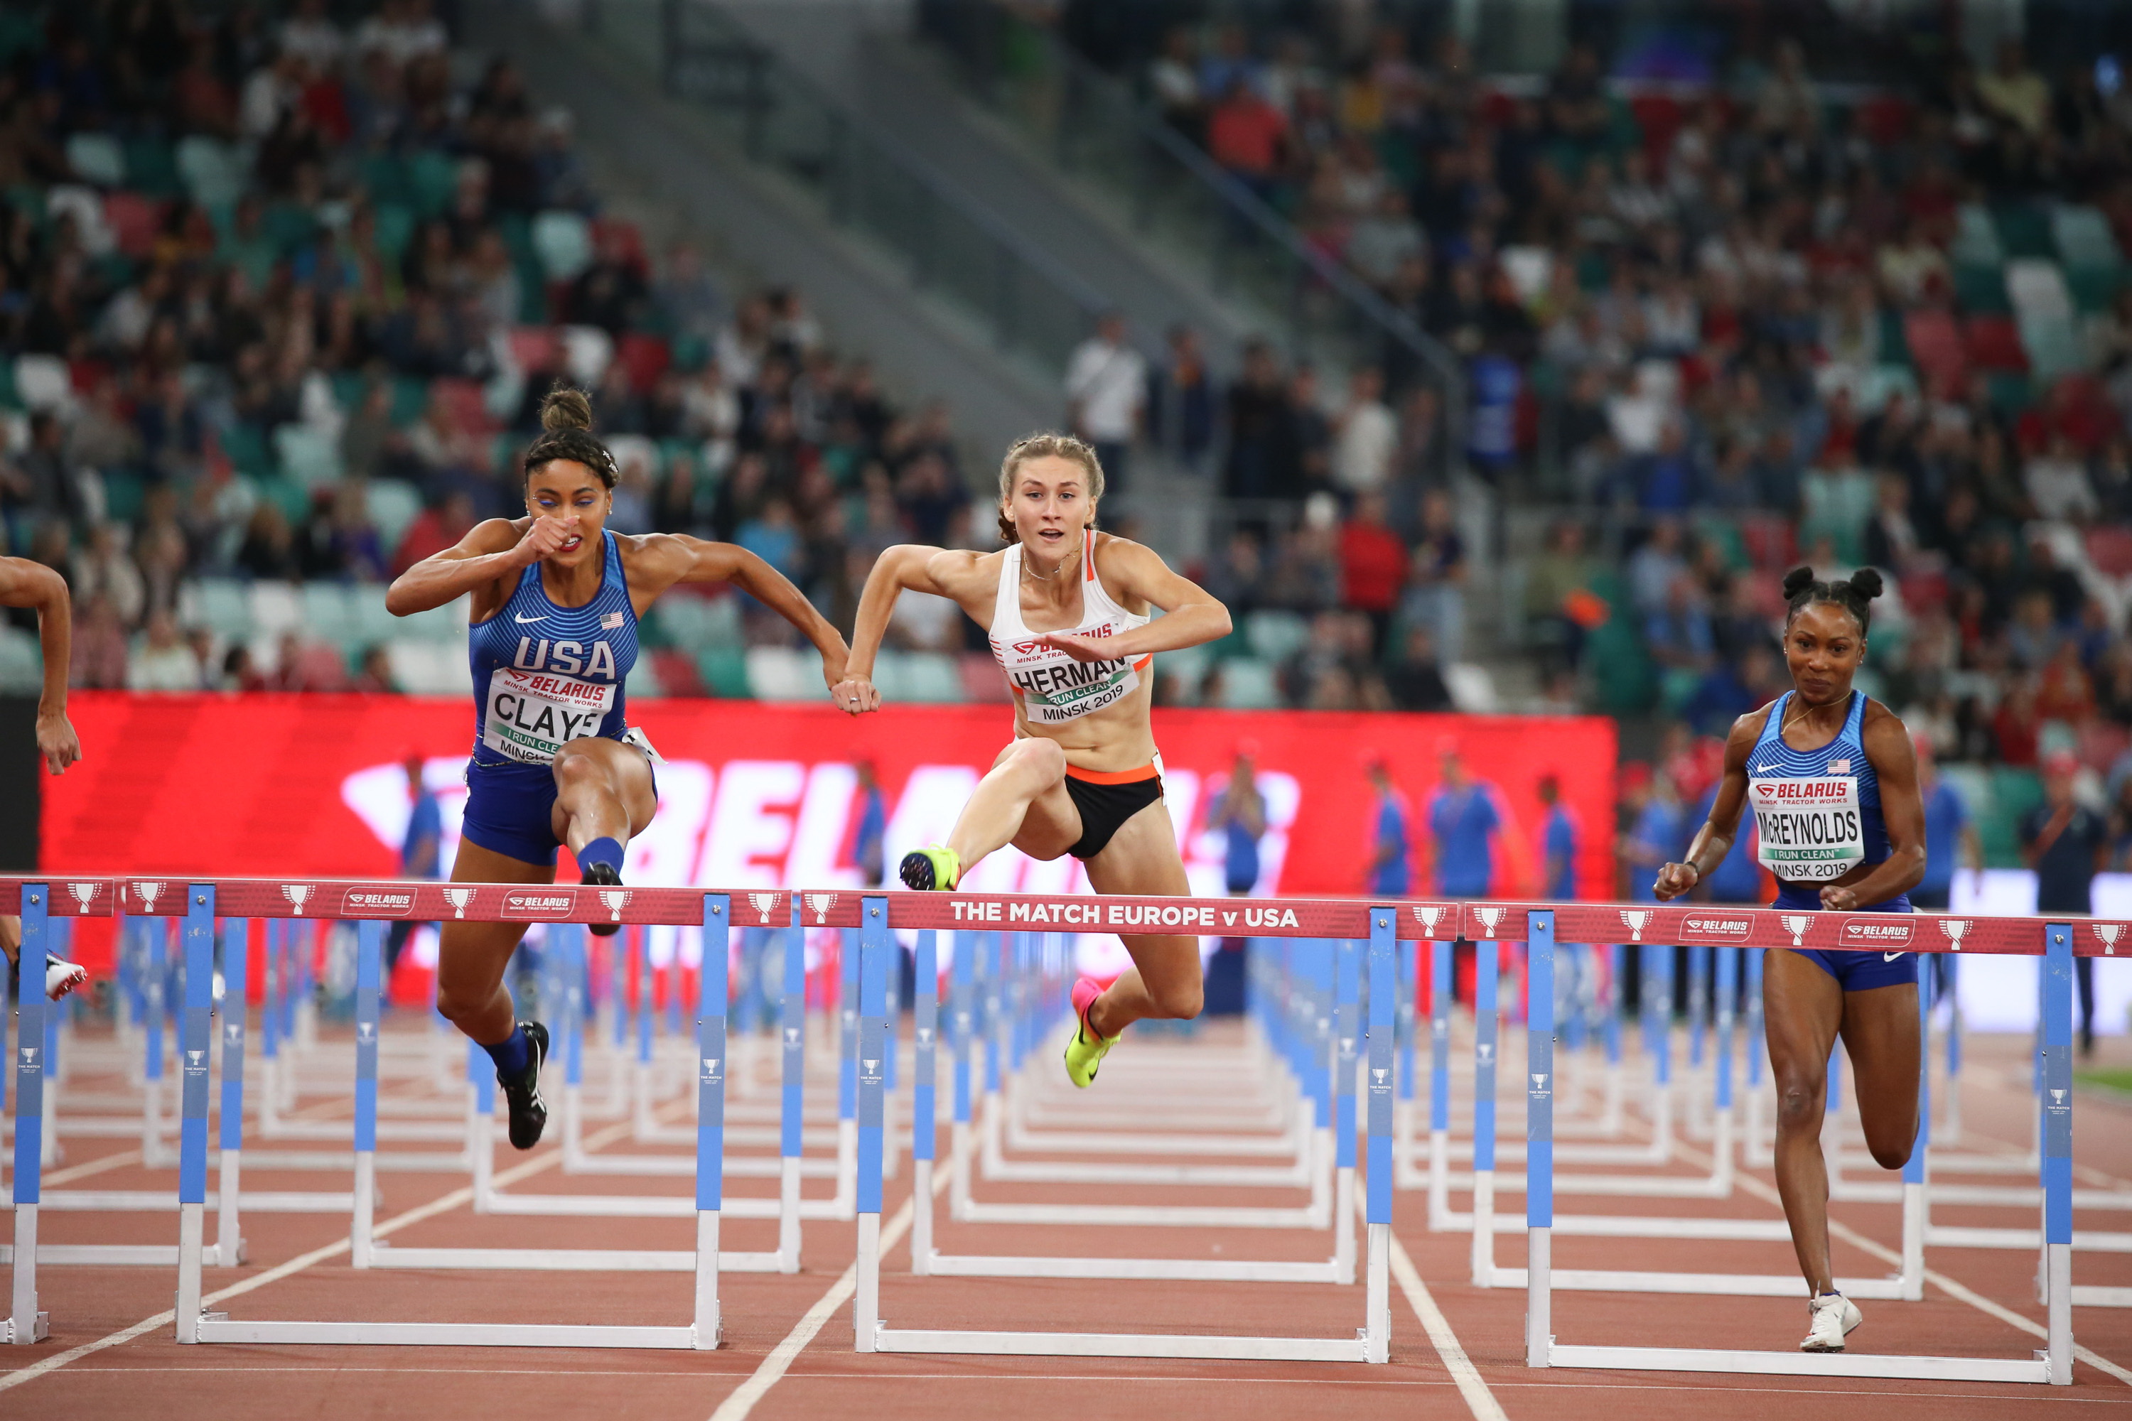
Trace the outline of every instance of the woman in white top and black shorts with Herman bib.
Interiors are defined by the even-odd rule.
[[[1228,609],[1147,548],[1096,533],[1100,499],[1089,445],[1032,435],[1000,462],[1002,552],[889,548],[866,577],[851,680],[834,690],[840,707],[859,716],[881,705],[874,652],[904,590],[947,597],[985,626],[1015,697],[1015,739],[947,844],[904,856],[910,888],[949,891],[1013,844],[1032,859],[1081,859],[1098,893],[1192,893],[1149,724],[1153,654],[1226,637]],[[1087,978],[1072,989],[1081,1025],[1066,1044],[1066,1076],[1077,1087],[1096,1078],[1130,1023],[1200,1012],[1198,940],[1121,940],[1132,969],[1107,991]]]

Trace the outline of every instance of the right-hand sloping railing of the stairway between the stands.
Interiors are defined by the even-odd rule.
[[[1217,294],[1266,313],[1332,366],[1379,364],[1394,388],[1428,381],[1445,445],[1465,450],[1465,369],[1441,341],[1313,247],[1281,213],[1124,83],[998,0],[921,0],[919,34],[964,89],[1077,179],[1107,187],[1130,224]]]

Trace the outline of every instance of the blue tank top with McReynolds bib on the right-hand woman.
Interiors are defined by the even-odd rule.
[[[1780,882],[1825,884],[1887,859],[1880,778],[1866,758],[1866,692],[1851,692],[1844,729],[1819,750],[1784,744],[1791,697],[1770,707],[1746,763],[1757,859]]]

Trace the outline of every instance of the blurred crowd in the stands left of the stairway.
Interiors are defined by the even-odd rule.
[[[222,646],[183,588],[375,584],[518,511],[559,379],[616,530],[748,545],[846,626],[872,552],[968,533],[944,409],[797,292],[655,260],[429,0],[0,13],[0,371],[4,550],[66,573],[83,686],[392,688],[379,648]]]

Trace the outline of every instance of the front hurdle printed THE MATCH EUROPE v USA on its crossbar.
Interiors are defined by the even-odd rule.
[[[1256,935],[1320,940],[1369,940],[1369,1157],[1367,1227],[1369,1265],[1364,1325],[1354,1338],[1241,1338],[1170,1334],[1047,1334],[1047,1332],[947,1332],[895,1329],[881,1317],[881,1061],[889,1048],[891,1023],[885,978],[893,952],[891,929],[966,929],[994,922],[1087,925],[1098,929],[1160,925],[1237,927],[1237,899],[1028,899],[981,895],[866,895],[859,920],[859,1259],[853,1295],[855,1346],[861,1353],[966,1353],[1049,1357],[1200,1357],[1275,1361],[1386,1361],[1390,1346],[1390,1221],[1392,1221],[1392,1012],[1396,989],[1399,912],[1390,905],[1283,901],[1254,908]],[[1271,929],[1271,931],[1269,931]],[[1283,933],[1281,929],[1294,929]],[[923,950],[923,948],[921,948]],[[923,976],[923,974],[921,974]],[[921,986],[923,997],[923,986]],[[957,1014],[959,1014],[957,1006]],[[921,1012],[917,1020],[925,1020]],[[1358,1057],[1352,1057],[1358,1063]],[[1350,1078],[1354,1072],[1350,1072]],[[925,1108],[921,1106],[921,1112]],[[930,1176],[930,1170],[925,1172]],[[1345,1212],[1345,1210],[1343,1210]],[[917,1238],[917,1236],[915,1236]]]

